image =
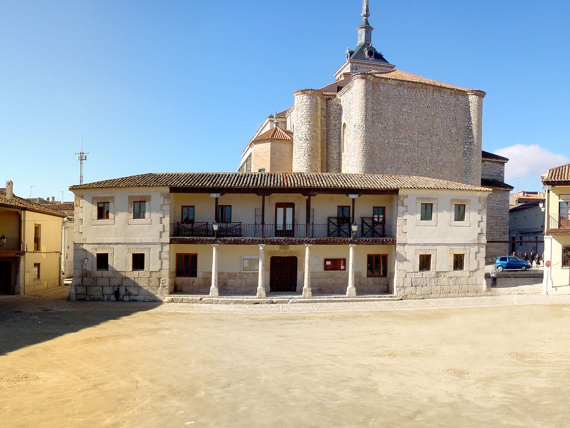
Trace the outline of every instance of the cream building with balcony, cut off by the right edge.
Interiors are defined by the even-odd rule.
[[[570,292],[570,164],[548,169],[546,190],[543,293]]]

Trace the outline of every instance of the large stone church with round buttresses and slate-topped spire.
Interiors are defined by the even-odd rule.
[[[335,172],[433,177],[492,188],[487,263],[508,252],[507,158],[482,151],[485,92],[398,70],[372,45],[364,0],[358,43],[335,80],[295,91],[242,152],[238,172]]]

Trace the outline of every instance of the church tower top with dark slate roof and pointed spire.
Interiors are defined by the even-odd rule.
[[[368,0],[363,1],[361,16],[362,23],[356,29],[358,31],[358,44],[355,50],[347,48],[347,61],[335,73],[337,79],[342,78],[344,73],[369,70],[386,72],[394,68],[394,65],[390,64],[384,58],[384,55],[372,46],[372,31],[374,28],[368,22],[368,17],[370,17]]]

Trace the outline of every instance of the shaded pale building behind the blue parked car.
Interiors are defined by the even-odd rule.
[[[524,253],[544,253],[544,201],[528,202],[509,210],[510,249],[519,259]],[[507,255],[507,253],[504,253]]]

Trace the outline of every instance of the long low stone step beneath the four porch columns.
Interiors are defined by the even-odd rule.
[[[392,295],[366,295],[357,297],[346,296],[314,296],[302,298],[301,296],[270,296],[257,298],[253,296],[196,296],[191,294],[169,294],[164,298],[165,303],[206,303],[223,305],[260,305],[260,304],[292,304],[292,303],[339,303],[339,302],[382,302],[402,300],[401,296]]]

